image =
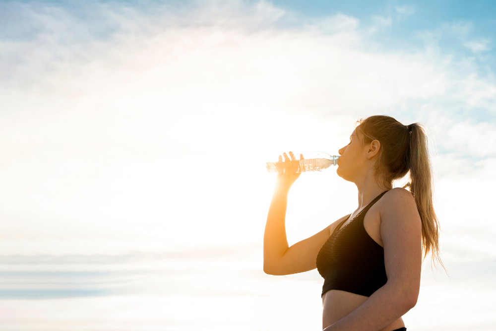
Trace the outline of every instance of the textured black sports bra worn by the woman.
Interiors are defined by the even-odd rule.
[[[318,252],[317,270],[324,278],[322,295],[329,290],[341,290],[369,297],[386,283],[384,249],[364,227],[365,214],[386,192],[336,231],[350,216],[339,223]]]

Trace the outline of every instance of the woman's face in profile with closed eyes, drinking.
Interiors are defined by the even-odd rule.
[[[359,132],[357,134],[357,132]],[[362,146],[362,132],[358,126],[350,136],[350,142],[339,150],[336,173],[344,180],[355,182],[366,168],[368,161],[366,148]]]

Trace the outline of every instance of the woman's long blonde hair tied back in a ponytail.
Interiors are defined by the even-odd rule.
[[[425,129],[418,123],[404,126],[384,115],[358,122],[364,144],[372,140],[380,142],[374,171],[376,176],[383,175],[386,188],[392,188],[394,180],[410,172],[410,182],[404,188],[410,188],[422,221],[423,258],[431,255],[434,265],[439,263],[444,268],[439,251],[439,221],[433,205],[432,170]]]

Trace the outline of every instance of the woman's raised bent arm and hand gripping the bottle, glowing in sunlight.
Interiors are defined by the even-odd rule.
[[[296,159],[291,152],[290,156],[292,160]],[[310,238],[289,247],[285,225],[288,193],[300,174],[293,172],[292,163],[286,153],[284,158],[284,174],[278,175],[263,235],[263,271],[272,275],[286,275],[316,268],[318,251],[338,222],[344,219],[338,219]]]

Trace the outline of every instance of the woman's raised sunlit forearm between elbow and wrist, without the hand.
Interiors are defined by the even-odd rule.
[[[289,247],[285,225],[288,192],[288,189],[276,189],[270,202],[263,234],[264,270],[273,266]]]

